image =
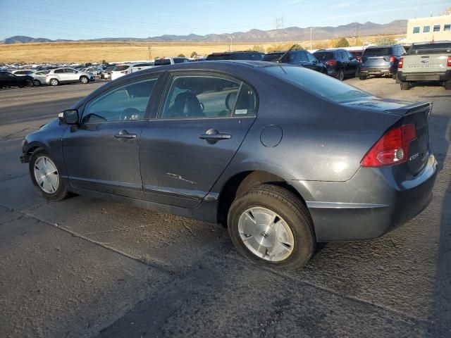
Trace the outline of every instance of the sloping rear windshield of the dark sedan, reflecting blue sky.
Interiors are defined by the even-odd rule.
[[[294,84],[295,87],[309,94],[330,101],[344,102],[371,96],[371,94],[335,80],[333,77],[322,76],[301,67],[278,65],[266,67],[264,70],[285,82]]]

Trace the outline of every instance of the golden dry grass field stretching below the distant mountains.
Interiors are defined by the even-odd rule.
[[[233,44],[235,51],[252,49],[256,44]],[[257,44],[264,49],[273,44]],[[228,44],[199,43],[142,43],[142,42],[61,42],[42,44],[2,44],[0,62],[108,62],[149,59],[184,54],[190,57],[195,51],[208,55],[215,51],[228,51]],[[307,46],[307,45],[306,45]]]

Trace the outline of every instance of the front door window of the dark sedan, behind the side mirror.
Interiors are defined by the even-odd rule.
[[[82,123],[106,123],[142,120],[157,77],[139,80],[110,89],[89,101]]]

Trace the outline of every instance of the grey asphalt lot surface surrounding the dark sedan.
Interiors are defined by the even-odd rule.
[[[319,246],[297,272],[238,255],[216,225],[76,196],[45,201],[23,135],[102,83],[0,91],[0,337],[451,337],[451,93],[433,101],[431,205],[381,239]]]

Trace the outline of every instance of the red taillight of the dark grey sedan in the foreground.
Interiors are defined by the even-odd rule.
[[[409,145],[416,139],[415,125],[402,125],[388,130],[366,153],[362,167],[383,167],[407,161]]]

